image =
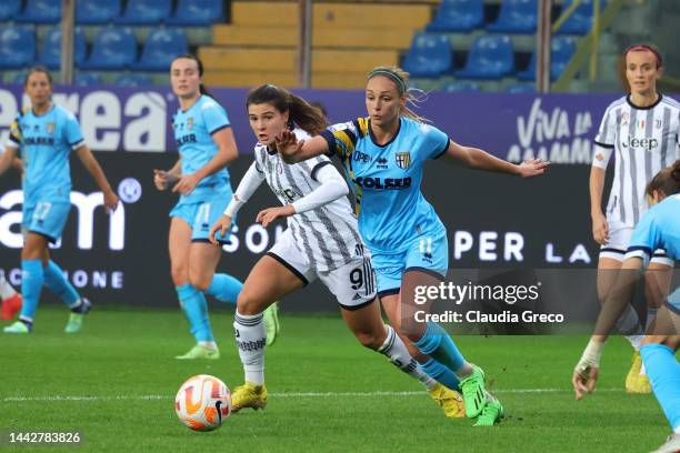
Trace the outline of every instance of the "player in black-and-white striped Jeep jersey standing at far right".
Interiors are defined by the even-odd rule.
[[[662,168],[680,158],[680,104],[657,92],[657,80],[663,67],[659,52],[650,46],[636,44],[623,52],[626,81],[630,93],[612,102],[602,119],[594,140],[594,158],[590,172],[590,211],[592,234],[601,244],[598,261],[598,296],[607,298],[616,280],[616,270],[623,255],[634,225],[647,210],[644,188]],[[604,173],[616,152],[614,178],[606,213],[601,200]],[[673,261],[657,251],[648,268],[648,320],[668,290]],[[656,294],[656,295],[654,295]],[[632,366],[626,378],[626,390],[649,393],[639,349],[644,326],[628,306],[618,323],[634,349]]]

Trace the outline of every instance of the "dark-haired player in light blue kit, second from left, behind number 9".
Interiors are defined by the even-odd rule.
[[[206,94],[202,74],[203,66],[193,56],[172,61],[170,81],[180,104],[172,128],[180,158],[171,170],[157,170],[153,178],[159,190],[172,187],[180,193],[170,211],[168,249],[172,282],[197,344],[177,359],[219,359],[203,293],[234,303],[242,288],[233,276],[214,273],[220,248],[208,239],[210,225],[231,197],[226,165],[238,157],[238,149],[227,112]]]

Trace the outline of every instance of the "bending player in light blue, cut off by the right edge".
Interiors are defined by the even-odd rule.
[[[604,342],[619,315],[630,306],[639,271],[649,265],[658,249],[666,250],[670,259],[680,260],[680,160],[651,180],[647,195],[653,207],[636,225],[622,271],[598,318],[596,334],[573,371],[577,400],[596,387]],[[676,359],[680,346],[680,288],[669,293],[640,348],[652,391],[673,430],[668,441],[656,450],[657,453],[680,451],[680,363]]]

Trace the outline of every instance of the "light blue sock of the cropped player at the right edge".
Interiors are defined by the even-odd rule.
[[[644,371],[672,430],[680,427],[680,363],[664,344],[640,348]]]

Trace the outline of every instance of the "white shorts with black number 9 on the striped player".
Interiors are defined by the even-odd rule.
[[[296,274],[306,285],[317,278],[333,293],[344,310],[358,310],[376,299],[376,273],[366,248],[352,260],[332,271],[317,271],[296,246],[290,229],[286,230],[267,254]]]

